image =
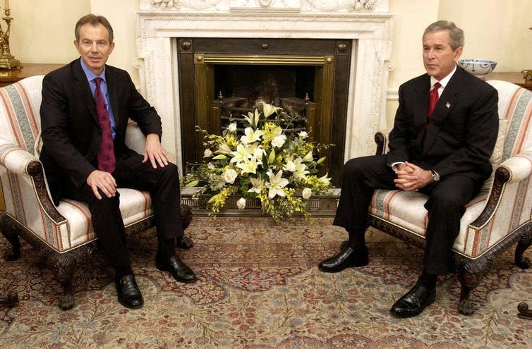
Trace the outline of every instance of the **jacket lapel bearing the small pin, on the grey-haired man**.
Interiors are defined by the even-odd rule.
[[[454,106],[457,105],[461,87],[461,73],[461,69],[457,68],[437,101],[425,135],[425,145],[423,147],[425,152],[428,152],[430,147],[433,146],[438,133],[440,133],[440,125],[445,123],[445,119],[451,114]]]

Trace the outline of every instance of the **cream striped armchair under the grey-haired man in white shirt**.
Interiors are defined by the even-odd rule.
[[[500,127],[490,159],[494,171],[468,203],[451,263],[461,283],[459,312],[473,314],[469,294],[493,260],[517,243],[516,264],[531,262],[523,253],[532,244],[532,92],[509,82],[488,81],[499,92]],[[482,127],[482,125],[478,125]],[[387,150],[387,132],[375,135],[377,154]],[[368,224],[418,247],[425,245],[427,196],[401,190],[376,190]]]

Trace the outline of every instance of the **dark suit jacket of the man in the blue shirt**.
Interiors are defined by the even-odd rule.
[[[161,137],[161,118],[135,89],[128,73],[106,66],[105,77],[116,121],[117,156],[133,152],[124,142],[128,118],[136,121],[145,135],[157,133]],[[102,141],[95,102],[80,59],[44,76],[40,114],[43,140],[40,160],[57,204],[63,197],[66,180],[79,188],[97,169],[97,152]]]

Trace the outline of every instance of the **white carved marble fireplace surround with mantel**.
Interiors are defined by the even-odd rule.
[[[386,87],[394,68],[388,11],[389,0],[140,0],[140,89],[162,116],[164,148],[183,169],[177,37],[349,39],[344,160],[373,154],[373,135],[386,127]]]

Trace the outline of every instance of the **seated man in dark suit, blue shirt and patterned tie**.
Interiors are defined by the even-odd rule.
[[[115,270],[116,291],[125,307],[143,297],[126,250],[116,188],[150,192],[157,226],[157,268],[177,281],[196,276],[174,252],[183,242],[177,167],[162,148],[161,118],[137,92],[126,71],[105,63],[114,49],[106,18],[87,15],[75,25],[80,59],[44,77],[40,160],[56,204],[63,197],[88,204],[95,233]],[[124,143],[128,119],[146,135],[144,155]]]

